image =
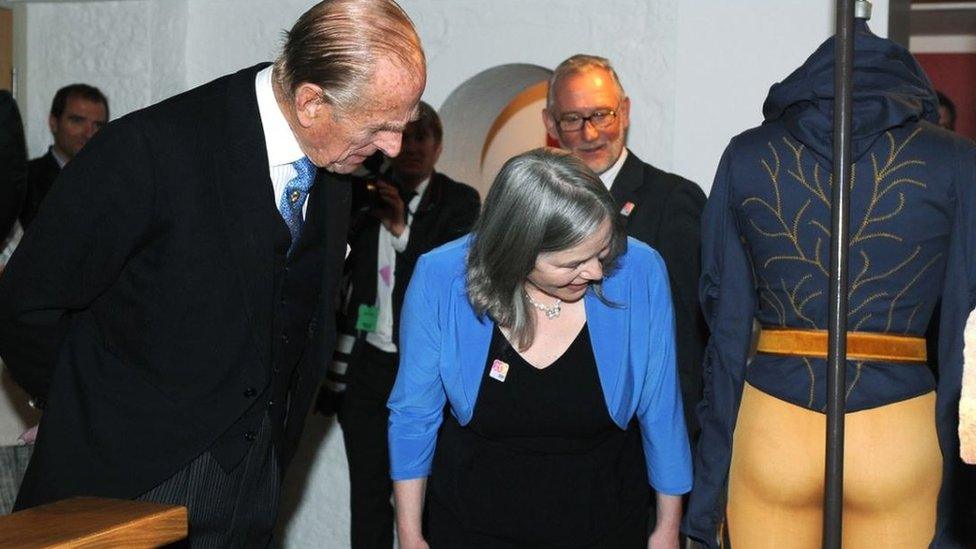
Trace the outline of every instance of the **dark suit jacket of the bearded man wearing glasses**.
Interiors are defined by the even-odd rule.
[[[674,302],[675,336],[681,396],[690,439],[698,433],[695,406],[701,400],[702,352],[707,328],[698,307],[701,275],[701,212],[705,193],[687,179],[642,162],[628,150],[610,193],[621,207],[627,234],[657,250],[668,268]]]

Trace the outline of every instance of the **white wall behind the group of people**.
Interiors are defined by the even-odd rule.
[[[31,3],[20,67],[32,155],[50,141],[47,110],[72,81],[101,87],[120,116],[229,71],[270,60],[311,0]],[[728,139],[760,121],[769,86],[833,26],[831,0],[403,0],[429,59],[438,107],[481,71],[554,67],[578,52],[611,58],[632,99],[630,146],[708,189]],[[748,6],[748,9],[746,9]],[[887,0],[875,1],[884,34]],[[26,33],[26,34],[24,34]],[[25,93],[26,92],[26,93]],[[4,413],[0,411],[0,413]],[[315,418],[285,487],[283,541],[348,545],[339,429]]]

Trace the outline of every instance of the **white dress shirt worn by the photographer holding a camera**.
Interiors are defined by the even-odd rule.
[[[380,310],[376,318],[376,331],[366,334],[366,342],[388,353],[397,352],[396,342],[393,341],[393,285],[396,283],[396,254],[403,253],[407,249],[413,214],[424,197],[428,183],[430,178],[417,185],[416,196],[410,199],[409,204],[404,205],[407,209],[407,226],[400,236],[393,236],[393,233],[380,224],[380,236],[376,239],[376,306]]]

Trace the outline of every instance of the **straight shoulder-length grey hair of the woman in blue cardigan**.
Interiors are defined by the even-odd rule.
[[[505,327],[519,349],[535,337],[525,279],[541,253],[571,248],[604,222],[612,226],[604,276],[627,248],[613,197],[583,161],[559,149],[520,154],[502,167],[485,198],[468,253],[468,299]],[[599,282],[597,296],[606,302]]]

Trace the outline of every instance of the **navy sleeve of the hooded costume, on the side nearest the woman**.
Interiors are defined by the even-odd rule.
[[[705,348],[701,434],[695,452],[695,489],[684,532],[717,547],[724,515],[732,431],[739,410],[752,340],[755,283],[734,214],[731,186],[735,141],[719,164],[702,218],[702,311],[711,330]]]

